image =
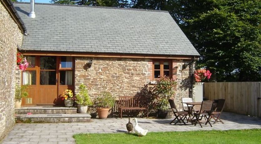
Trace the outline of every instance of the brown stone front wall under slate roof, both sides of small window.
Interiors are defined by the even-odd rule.
[[[89,61],[92,60],[92,64]],[[172,60],[173,77],[177,78],[175,101],[181,108],[181,97],[189,97],[191,89],[190,67],[186,60]],[[81,83],[87,85],[92,98],[102,91],[109,91],[115,97],[120,95],[149,95],[152,81],[152,59],[128,58],[75,58],[75,93]]]

